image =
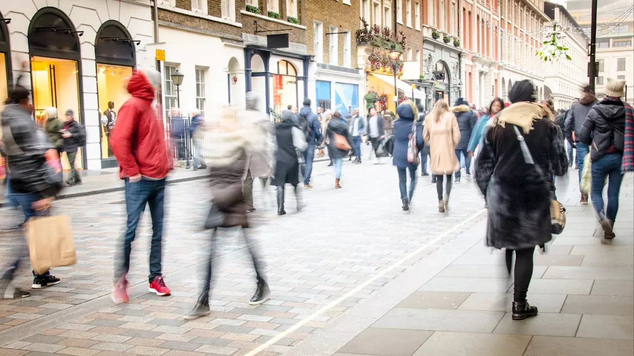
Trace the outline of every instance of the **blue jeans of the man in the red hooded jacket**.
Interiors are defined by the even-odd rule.
[[[131,183],[126,179],[126,236],[123,241],[122,255],[119,256],[119,270],[115,278],[125,276],[130,269],[130,253],[132,242],[136,237],[136,227],[139,225],[141,214],[145,212],[145,205],[150,205],[152,215],[152,247],[150,248],[150,276],[161,276],[161,251],[163,238],[163,215],[165,201],[165,178],[153,181],[141,178],[141,181]]]

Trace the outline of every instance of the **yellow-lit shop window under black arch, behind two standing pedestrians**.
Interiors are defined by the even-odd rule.
[[[56,108],[58,118],[63,120],[67,110],[72,110],[75,120],[83,124],[79,110],[79,76],[77,61],[31,56],[31,80],[33,85],[33,105],[36,108],[36,123],[44,127],[46,108]],[[75,167],[82,168],[82,149],[77,150]],[[62,154],[61,165],[69,170],[66,153]]]

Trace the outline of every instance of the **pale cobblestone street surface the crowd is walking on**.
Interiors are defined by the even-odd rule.
[[[62,279],[56,286],[32,290],[32,296],[23,300],[0,300],[0,355],[253,356],[254,350],[259,352],[257,355],[269,356],[332,355],[355,336],[365,333],[372,322],[391,312],[396,303],[411,298],[410,294],[425,282],[420,268],[426,262],[446,256],[456,246],[460,250],[464,236],[481,239],[486,215],[474,182],[463,179],[462,184],[455,184],[450,212],[441,214],[437,212],[435,185],[430,184],[429,177],[422,177],[418,179],[413,207],[410,212],[402,212],[396,169],[391,164],[375,165],[370,160],[362,165],[346,162],[342,176],[344,189],[337,191],[333,189],[332,167],[326,165],[316,163],[312,182],[315,188],[302,189],[307,207],[301,213],[294,212],[291,189],[286,194],[289,214],[284,217],[275,216],[272,192],[256,191],[258,210],[250,215],[254,228],[249,234],[251,243],[264,257],[273,298],[256,307],[248,304],[255,279],[245,253],[245,241],[238,231],[222,231],[214,259],[212,313],[192,322],[184,321],[181,316],[195,303],[202,282],[202,264],[209,253],[209,232],[200,230],[210,198],[206,181],[182,182],[167,188],[163,265],[172,296],[159,297],[147,292],[151,224],[146,213],[134,243],[129,274],[131,300],[119,305],[113,305],[109,293],[125,221],[122,193],[59,201],[56,210],[72,217],[78,264],[53,269],[53,274]],[[631,177],[626,184],[621,194],[626,198],[622,199],[623,211],[619,216],[632,215]],[[567,203],[574,205],[573,188],[566,193],[571,198]],[[5,216],[9,219],[6,210],[0,213],[3,219]],[[583,234],[580,231],[579,235],[570,234],[575,229],[567,227],[571,232],[555,239],[553,246],[562,238],[565,242],[571,236],[587,235],[591,226],[585,224],[594,224],[594,220],[583,219],[587,220],[579,220],[583,221],[579,222]],[[632,222],[623,221],[627,229],[617,234],[620,232],[624,237],[613,244],[621,241],[632,245]],[[593,243],[583,240],[588,238],[579,239],[588,241],[588,245]],[[2,232],[1,251],[15,241],[15,235]],[[628,248],[630,260],[627,254],[621,258],[630,263],[631,269],[631,246]],[[3,264],[7,261],[3,253]],[[465,269],[478,271],[474,266]],[[29,288],[32,281],[29,271],[23,270],[21,275],[20,284]],[[403,289],[404,283],[413,290]],[[624,285],[626,291],[632,289],[631,279],[625,283],[630,283]],[[389,300],[396,302],[391,305]],[[631,319],[631,307],[629,315]],[[336,331],[342,324],[351,329],[332,332],[333,327]],[[424,330],[429,336],[436,329]],[[389,339],[385,334],[374,337],[386,338]],[[418,340],[416,336],[413,338]],[[321,346],[313,348],[314,345]],[[345,349],[341,352],[362,353]],[[363,352],[373,354],[368,350]],[[398,353],[401,354],[404,355]]]

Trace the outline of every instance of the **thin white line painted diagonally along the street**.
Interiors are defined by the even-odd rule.
[[[306,319],[302,319],[301,321],[297,322],[297,324],[295,324],[294,326],[289,327],[286,331],[283,331],[282,333],[278,334],[277,336],[275,336],[271,340],[266,341],[266,343],[263,343],[262,345],[257,347],[255,350],[252,350],[251,352],[246,353],[244,356],[255,356],[258,353],[264,351],[269,346],[275,344],[277,341],[283,339],[288,334],[290,334],[290,333],[294,332],[295,330],[299,329],[300,327],[302,327],[304,324],[306,324],[306,322],[309,322],[309,321],[313,320],[314,318],[316,318],[319,315],[321,315],[323,312],[327,312],[328,310],[330,310],[330,308],[335,307],[337,304],[339,304],[339,303],[343,302],[344,300],[346,300],[347,298],[350,298],[351,296],[355,295],[358,291],[360,291],[361,289],[363,289],[366,286],[368,286],[368,284],[376,281],[380,277],[385,276],[385,274],[387,274],[387,272],[390,272],[391,270],[395,269],[396,267],[399,267],[399,265],[403,264],[404,262],[406,262],[410,258],[414,257],[415,255],[418,255],[418,253],[421,253],[423,250],[425,250],[425,248],[428,248],[429,246],[433,245],[434,243],[437,243],[440,239],[444,238],[448,234],[451,234],[451,232],[456,231],[456,229],[459,229],[461,226],[463,226],[464,224],[467,224],[467,222],[470,222],[471,220],[475,219],[476,217],[478,217],[478,215],[480,215],[481,213],[483,213],[485,211],[486,211],[486,209],[480,210],[479,212],[477,212],[474,215],[472,215],[471,217],[469,217],[469,219],[464,220],[463,222],[461,222],[460,224],[452,227],[448,231],[445,231],[442,234],[438,235],[437,238],[433,239],[432,241],[429,241],[425,245],[420,246],[416,251],[413,251],[409,255],[401,258],[401,260],[398,260],[398,262],[396,262],[395,264],[391,265],[390,267],[387,267],[387,269],[384,269],[382,272],[380,272],[378,274],[375,274],[374,277],[372,277],[372,278],[368,279],[367,281],[363,282],[357,288],[354,288],[353,290],[349,291],[345,295],[340,296],[337,300],[333,300],[332,303],[330,303],[328,305],[325,305],[320,310],[317,310],[316,312],[314,312],[314,314],[309,315],[308,317],[306,317]]]

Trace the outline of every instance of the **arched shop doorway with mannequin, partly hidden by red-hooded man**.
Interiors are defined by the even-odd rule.
[[[117,122],[119,108],[130,98],[125,83],[132,76],[132,68],[136,65],[134,40],[126,27],[114,20],[104,22],[94,39],[94,57],[101,113],[101,168],[117,167],[108,137]]]

